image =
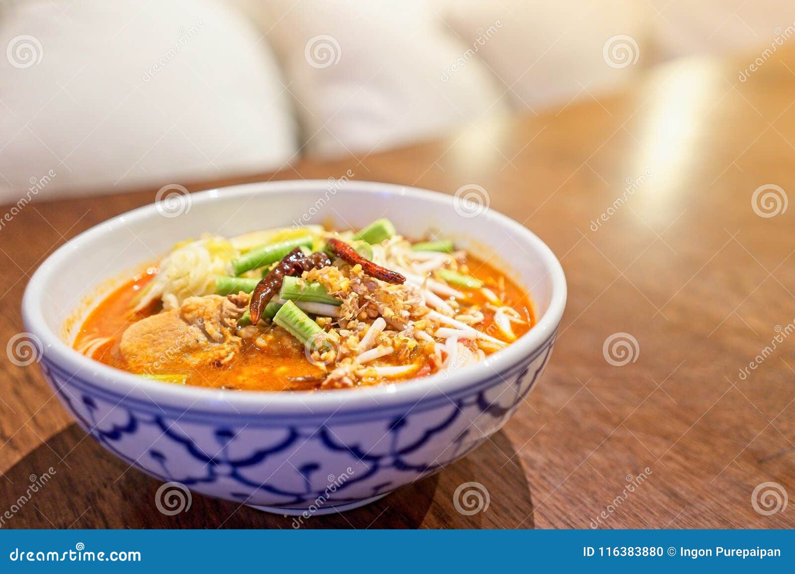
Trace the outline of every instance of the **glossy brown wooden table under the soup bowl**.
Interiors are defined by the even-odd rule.
[[[553,248],[568,277],[545,379],[492,441],[378,503],[306,527],[795,526],[795,509],[760,514],[751,499],[768,482],[795,496],[795,206],[766,217],[776,211],[761,201],[770,190],[754,202],[766,185],[795,201],[795,55],[779,51],[741,83],[754,57],[682,60],[611,97],[584,94],[393,152],[223,182],[350,168],[355,179],[447,193],[477,183],[493,209]],[[22,291],[45,256],[153,196],[34,201],[6,225],[0,342],[22,330]],[[637,341],[623,366],[603,353],[615,333]],[[37,368],[5,357],[0,368],[0,510],[30,475],[56,470],[4,526],[290,527],[200,495],[188,512],[160,514],[159,483],[124,472],[85,437]],[[466,481],[487,487],[487,511],[456,512],[452,494]]]

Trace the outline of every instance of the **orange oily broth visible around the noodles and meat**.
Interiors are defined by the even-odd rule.
[[[498,272],[490,264],[478,260],[473,256],[467,256],[468,273],[481,279],[483,283],[491,288],[492,291],[506,305],[518,310],[526,324],[512,323],[514,334],[521,337],[535,323],[533,314],[533,304],[529,295],[518,287],[516,283],[508,279],[505,275]],[[80,332],[75,340],[75,348],[90,342],[94,337],[112,337],[113,341],[103,345],[96,350],[93,358],[103,364],[121,369],[122,371],[133,372],[126,364],[124,357],[119,349],[119,342],[124,330],[134,322],[157,314],[161,310],[159,303],[153,303],[149,308],[142,312],[132,314],[134,298],[138,291],[145,286],[153,275],[136,275],[129,282],[119,287],[106,299],[99,303],[88,315]],[[468,291],[459,288],[460,291],[469,294],[466,299],[468,304],[483,305],[487,299],[480,291]],[[492,337],[506,341],[502,332],[494,325],[493,316],[483,310],[484,321],[478,327]],[[289,333],[279,326],[272,325],[266,334],[261,337],[264,345],[258,347],[254,342],[243,341],[242,352],[235,356],[235,359],[227,364],[226,367],[218,368],[211,365],[203,365],[188,371],[176,371],[174,369],[161,369],[165,374],[179,373],[187,376],[186,382],[197,387],[227,388],[246,391],[309,391],[319,387],[325,371],[316,365],[311,364],[304,355],[304,345],[296,341]],[[489,354],[489,352],[487,352]],[[392,366],[398,364],[418,364],[417,370],[402,379],[412,379],[417,376],[427,376],[432,374],[434,368],[432,362],[419,349],[413,352],[405,363],[397,360],[397,357],[386,356],[379,360],[368,363],[373,366]],[[317,378],[320,378],[318,380]],[[301,378],[304,378],[301,380]],[[389,382],[399,381],[400,377],[388,379]],[[370,384],[378,384],[385,381],[374,380]],[[164,383],[169,384],[169,383]]]

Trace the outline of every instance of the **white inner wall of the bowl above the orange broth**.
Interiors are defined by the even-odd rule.
[[[335,191],[335,185],[341,188]],[[464,217],[452,208],[453,198],[447,195],[382,183],[335,185],[254,183],[191,195],[189,209],[187,203],[176,206],[184,211],[177,217],[165,217],[155,206],[145,206],[105,222],[69,242],[64,256],[48,262],[54,268],[40,295],[45,322],[71,342],[87,312],[126,272],[200,233],[232,237],[293,222],[358,228],[381,217],[389,217],[407,237],[425,237],[429,230],[452,237],[456,245],[487,259],[529,290],[537,318],[549,308],[553,281],[546,248],[541,241],[534,245],[517,237],[514,222],[493,211]]]

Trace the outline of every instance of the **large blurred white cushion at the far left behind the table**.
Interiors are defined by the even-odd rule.
[[[292,102],[266,41],[207,0],[14,2],[0,20],[0,202],[281,167]],[[7,56],[7,57],[6,57]]]

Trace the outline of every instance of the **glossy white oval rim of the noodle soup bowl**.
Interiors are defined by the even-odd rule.
[[[223,202],[246,195],[273,192],[316,194],[317,191],[325,191],[327,187],[326,179],[244,183],[192,193],[191,200],[192,206],[196,206],[206,202]],[[378,192],[399,197],[413,197],[448,209],[454,205],[452,195],[394,183],[349,180],[339,189],[339,194],[350,192]],[[72,377],[77,377],[80,372],[85,373],[85,376],[80,377],[79,380],[85,381],[87,377],[111,395],[123,397],[122,401],[131,397],[153,405],[184,408],[186,412],[196,407],[215,412],[228,413],[232,410],[238,414],[254,413],[263,417],[268,414],[285,413],[296,415],[335,414],[338,410],[349,411],[360,408],[381,410],[403,404],[416,405],[425,400],[438,399],[440,396],[447,397],[462,387],[471,387],[473,384],[493,379],[495,374],[502,378],[501,373],[515,368],[518,364],[522,364],[527,357],[537,354],[545,348],[546,343],[555,336],[566,303],[565,275],[560,261],[557,260],[552,250],[535,233],[523,225],[496,210],[488,209],[483,214],[479,214],[478,218],[496,220],[509,230],[514,241],[531,248],[529,252],[541,261],[545,269],[544,276],[549,276],[552,283],[549,307],[545,313],[541,315],[533,329],[508,345],[506,349],[502,349],[476,364],[468,365],[450,376],[436,374],[421,379],[409,379],[404,382],[366,388],[289,393],[283,391],[241,392],[164,384],[161,381],[144,379],[141,376],[109,367],[72,349],[61,340],[58,333],[47,326],[41,309],[43,286],[50,281],[57,265],[64,258],[74,251],[87,248],[93,241],[97,241],[104,234],[115,229],[117,225],[125,225],[153,216],[157,216],[157,207],[155,203],[149,203],[107,219],[76,237],[72,237],[71,240],[52,252],[40,265],[25,287],[25,295],[22,299],[22,318],[25,329],[38,337],[42,344],[42,353],[39,359],[41,360],[42,356],[45,356],[48,362],[55,364],[60,370],[72,373]],[[130,267],[132,268],[133,265]],[[522,287],[527,288],[528,286]]]

